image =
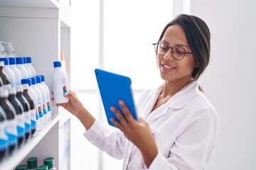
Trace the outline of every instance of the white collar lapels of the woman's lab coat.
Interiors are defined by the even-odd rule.
[[[167,101],[155,111],[150,113],[146,118],[146,121],[149,122],[151,120],[161,117],[162,115],[165,115],[169,109],[179,110],[183,108],[186,103],[191,101],[196,96],[196,91],[198,91],[198,84],[198,81],[193,81],[191,84],[188,84],[188,86],[181,89],[181,91],[178,91],[178,93],[172,96],[169,101]],[[151,99],[158,98],[163,88],[164,85],[159,86],[159,89],[155,91],[154,97]]]

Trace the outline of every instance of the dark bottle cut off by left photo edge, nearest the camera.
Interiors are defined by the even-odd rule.
[[[8,147],[8,137],[6,136],[6,113],[4,109],[0,106],[0,161],[6,155],[7,147]]]

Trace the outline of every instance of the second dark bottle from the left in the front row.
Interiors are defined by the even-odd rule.
[[[8,90],[0,88],[0,106],[4,109],[7,119],[6,135],[8,137],[9,154],[12,154],[18,144],[18,132],[16,123],[16,111],[8,100]]]

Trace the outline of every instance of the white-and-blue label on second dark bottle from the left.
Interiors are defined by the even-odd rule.
[[[16,120],[12,119],[7,121],[6,135],[8,137],[9,146],[14,146],[18,142],[16,126]]]

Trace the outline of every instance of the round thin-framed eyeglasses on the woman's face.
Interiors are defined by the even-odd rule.
[[[164,42],[156,42],[153,45],[154,50],[158,55],[165,55],[166,52],[171,48],[171,55],[176,60],[182,60],[186,54],[193,54],[193,52],[186,52],[186,50],[181,46],[169,47]]]

